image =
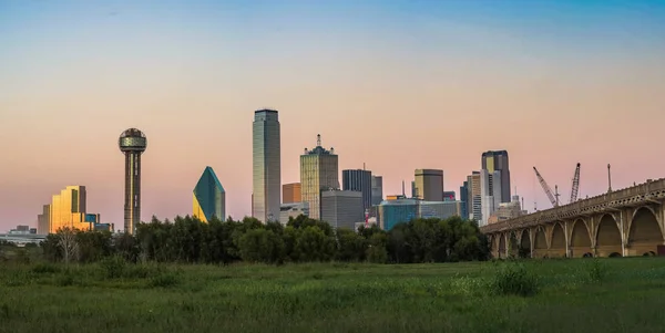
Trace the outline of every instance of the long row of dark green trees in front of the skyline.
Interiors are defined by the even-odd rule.
[[[487,260],[487,238],[474,221],[459,217],[415,219],[390,231],[376,226],[332,229],[306,216],[286,226],[255,218],[202,222],[190,216],[161,221],[153,217],[135,235],[61,229],[41,243],[50,261],[94,262],[120,256],[132,262],[282,264],[311,261],[416,263]]]

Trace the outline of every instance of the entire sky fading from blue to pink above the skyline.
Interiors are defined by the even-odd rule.
[[[400,194],[417,168],[456,190],[507,149],[513,191],[551,207],[665,177],[665,1],[0,0],[0,231],[37,226],[68,185],[123,223],[119,135],[137,127],[142,218],[192,214],[206,166],[250,215],[254,111],[279,111],[282,181],[299,155]],[[407,188],[409,188],[407,186]]]

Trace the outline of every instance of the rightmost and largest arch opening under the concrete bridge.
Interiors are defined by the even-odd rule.
[[[663,244],[663,231],[654,211],[648,207],[638,208],[628,228],[628,253],[644,256],[655,253]]]

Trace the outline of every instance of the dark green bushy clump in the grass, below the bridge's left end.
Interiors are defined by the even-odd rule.
[[[516,263],[499,269],[489,287],[492,293],[503,295],[530,296],[539,292],[538,277]]]

